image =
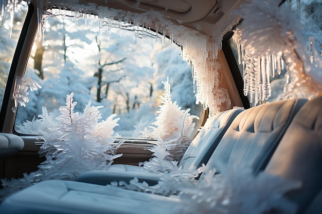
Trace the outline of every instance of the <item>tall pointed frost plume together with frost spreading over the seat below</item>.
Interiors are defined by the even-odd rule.
[[[160,96],[162,105],[157,111],[158,116],[149,127],[142,131],[141,137],[144,139],[156,139],[150,143],[155,146],[150,151],[153,152],[153,158],[150,161],[139,163],[150,172],[162,173],[157,185],[149,186],[146,182],[140,183],[138,179],[133,179],[130,183],[120,181],[115,186],[124,186],[124,188],[136,191],[143,191],[153,194],[162,194],[170,196],[178,193],[179,188],[195,185],[195,178],[199,176],[203,168],[200,169],[182,169],[178,167],[178,161],[181,160],[184,152],[192,141],[193,119],[199,119],[197,116],[190,115],[189,111],[181,110],[176,102],[172,102],[170,93],[170,84],[162,82],[165,85],[165,93]],[[114,184],[112,184],[114,185]]]

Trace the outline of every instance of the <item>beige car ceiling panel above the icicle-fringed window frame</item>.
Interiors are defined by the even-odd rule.
[[[211,36],[226,20],[231,10],[244,0],[81,0],[97,6],[134,13],[158,11],[174,23]]]

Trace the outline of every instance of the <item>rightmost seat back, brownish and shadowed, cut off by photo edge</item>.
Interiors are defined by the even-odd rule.
[[[322,96],[297,113],[265,171],[302,183],[301,188],[287,194],[298,205],[297,213],[307,209],[307,213],[321,213]]]

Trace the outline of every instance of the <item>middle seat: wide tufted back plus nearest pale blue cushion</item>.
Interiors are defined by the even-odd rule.
[[[216,166],[220,161],[226,167],[251,166],[254,172],[263,169],[293,116],[305,103],[305,100],[286,100],[241,112],[224,134],[207,167]],[[180,199],[173,197],[52,180],[13,194],[3,202],[0,211],[8,214],[179,213],[178,203]]]

